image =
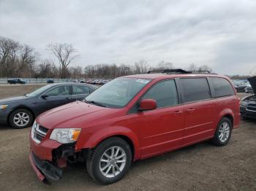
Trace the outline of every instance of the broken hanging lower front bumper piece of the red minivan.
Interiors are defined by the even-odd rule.
[[[62,169],[48,162],[40,160],[33,152],[29,153],[29,160],[37,177],[42,182],[59,180],[62,177]]]

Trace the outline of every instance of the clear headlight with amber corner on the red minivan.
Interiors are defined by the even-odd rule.
[[[50,134],[50,139],[62,144],[72,143],[78,141],[80,131],[80,128],[56,128]]]

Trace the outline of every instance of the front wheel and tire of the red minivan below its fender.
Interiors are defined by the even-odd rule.
[[[86,161],[90,176],[100,184],[122,179],[132,164],[132,151],[124,139],[113,137],[102,141]]]

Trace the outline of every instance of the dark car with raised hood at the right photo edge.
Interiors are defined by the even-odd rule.
[[[248,79],[253,95],[246,96],[241,99],[240,112],[244,118],[255,118],[256,119],[256,76]]]

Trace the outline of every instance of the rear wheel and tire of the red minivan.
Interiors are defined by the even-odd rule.
[[[225,146],[230,141],[232,132],[232,123],[227,117],[223,117],[217,125],[214,138],[211,140],[216,146]]]

